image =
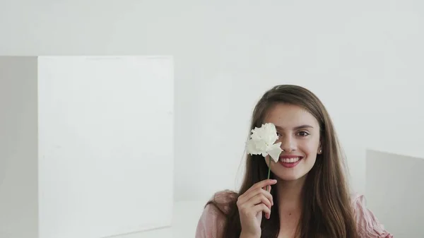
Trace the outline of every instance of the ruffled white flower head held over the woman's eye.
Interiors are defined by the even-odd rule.
[[[272,123],[263,124],[260,128],[252,130],[249,141],[246,143],[247,153],[251,155],[270,155],[275,162],[281,150],[281,142],[274,144],[278,140],[276,126]]]

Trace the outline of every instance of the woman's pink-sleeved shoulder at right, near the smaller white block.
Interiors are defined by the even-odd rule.
[[[393,234],[387,232],[374,213],[366,207],[364,195],[351,194],[351,202],[360,237],[393,238]]]

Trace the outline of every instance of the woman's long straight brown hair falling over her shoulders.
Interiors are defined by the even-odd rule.
[[[252,115],[251,129],[260,127],[269,109],[277,103],[297,105],[310,112],[318,121],[322,154],[308,172],[302,188],[302,214],[298,227],[300,238],[357,238],[350,191],[345,178],[344,160],[333,123],[319,98],[298,85],[277,85],[257,102]],[[219,208],[226,217],[223,237],[240,237],[241,225],[237,197],[253,184],[267,178],[268,166],[261,155],[247,155],[245,177],[238,193],[230,192],[230,201],[213,198],[208,204]],[[274,175],[271,172],[271,178]],[[271,190],[276,198],[276,189]],[[261,237],[275,238],[279,232],[278,203],[271,207],[271,218],[261,221]]]

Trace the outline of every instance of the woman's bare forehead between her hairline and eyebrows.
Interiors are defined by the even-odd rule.
[[[290,128],[300,125],[310,125],[318,128],[317,119],[307,110],[296,105],[277,104],[269,109],[264,123],[271,122],[276,126]]]

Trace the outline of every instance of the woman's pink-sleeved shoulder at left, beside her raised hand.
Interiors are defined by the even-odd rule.
[[[237,201],[237,193],[229,190],[213,194],[199,218],[196,238],[220,238],[231,205]]]

